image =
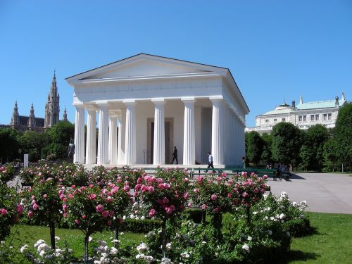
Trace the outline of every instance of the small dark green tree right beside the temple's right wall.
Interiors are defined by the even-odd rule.
[[[246,132],[246,159],[258,164],[263,152],[263,139],[256,131]]]

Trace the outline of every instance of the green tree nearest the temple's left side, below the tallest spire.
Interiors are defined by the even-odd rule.
[[[49,151],[48,149],[44,151],[54,153],[56,158],[67,158],[68,144],[75,135],[75,125],[68,121],[61,121],[51,127],[48,133],[51,137],[51,146]]]

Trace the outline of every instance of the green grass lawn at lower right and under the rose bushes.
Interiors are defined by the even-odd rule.
[[[308,213],[310,222],[315,227],[315,234],[307,237],[292,239],[291,251],[282,264],[349,264],[352,263],[352,215]],[[18,232],[16,232],[16,230]],[[33,246],[38,239],[44,239],[49,243],[49,229],[47,227],[18,225],[12,228],[12,235],[6,240],[16,248],[23,244]],[[79,230],[57,229],[56,236],[61,237],[58,246],[63,246],[68,241],[70,249],[73,249],[77,257],[83,254],[83,234]],[[110,242],[113,232],[96,233],[92,235],[92,246],[102,239]],[[120,235],[121,246],[130,244],[131,241],[144,241],[144,234],[125,232]],[[94,242],[95,241],[95,242]],[[280,263],[280,264],[281,264]]]

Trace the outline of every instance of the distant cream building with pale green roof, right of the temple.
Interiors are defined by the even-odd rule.
[[[297,106],[295,101],[292,101],[291,106],[284,103],[272,111],[258,115],[256,117],[256,127],[246,127],[246,132],[270,133],[272,127],[278,122],[291,122],[302,130],[307,130],[317,124],[332,128],[335,126],[339,109],[346,102],[344,93],[342,93],[341,99],[336,96],[334,100],[306,103],[303,103],[303,98],[300,96]]]

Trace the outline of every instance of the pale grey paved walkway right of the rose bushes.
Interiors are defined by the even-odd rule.
[[[352,214],[352,176],[331,173],[298,173],[289,181],[269,180],[272,193],[289,194],[291,201],[306,200],[307,211]]]

